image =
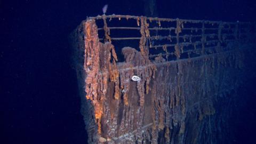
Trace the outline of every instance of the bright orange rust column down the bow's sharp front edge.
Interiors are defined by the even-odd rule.
[[[94,20],[83,23],[85,32],[85,59],[84,69],[87,74],[86,83],[86,99],[90,99],[94,105],[95,122],[98,124],[98,133],[101,133],[101,117],[102,117],[102,99],[98,95],[98,81],[100,70],[99,59],[99,37],[97,26]]]

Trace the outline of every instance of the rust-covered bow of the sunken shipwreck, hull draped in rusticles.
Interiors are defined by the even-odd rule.
[[[104,23],[104,43],[100,42],[95,22],[100,18]],[[140,26],[138,45],[121,47],[122,54],[117,55],[118,51],[116,53],[111,43],[115,39],[109,36],[107,18],[135,19]],[[175,19],[176,27],[170,28],[176,34],[175,43],[156,46],[162,47],[164,53],[150,59],[147,42],[154,33],[151,33],[148,21],[154,20],[158,27],[166,21],[174,21],[102,15],[83,21],[74,31],[73,45],[81,50],[79,55],[83,53],[79,58],[83,68],[77,74],[85,86],[82,114],[88,142],[230,143],[222,134],[229,133],[224,128],[233,114],[230,110],[239,100],[235,90],[245,81],[243,75],[249,50],[242,49],[244,47],[237,42],[228,43],[224,51],[222,41],[226,41],[225,36],[218,29],[218,44],[207,49],[206,45],[211,41],[206,41],[204,25],[211,22],[204,21],[200,42],[191,44],[192,50],[187,51],[185,48],[190,44],[180,43],[179,39],[186,20]],[[223,29],[223,23],[219,29]],[[234,33],[238,33],[237,26],[235,29]],[[191,37],[183,35],[190,41]],[[171,38],[171,35],[167,36],[168,41]],[[236,34],[235,38],[239,39],[239,36]],[[196,45],[201,45],[201,49]],[[173,46],[172,52],[169,46]],[[186,51],[188,58],[181,59]],[[177,59],[169,61],[171,54]],[[190,58],[190,54],[199,56]],[[119,55],[123,55],[123,62],[117,62]],[[132,81],[132,76],[140,77],[140,81]]]

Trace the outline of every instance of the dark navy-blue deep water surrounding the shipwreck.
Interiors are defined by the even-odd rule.
[[[107,14],[143,15],[142,0],[0,1],[0,143],[86,143],[68,35],[105,4]],[[255,7],[246,0],[157,1],[165,18],[255,21]]]

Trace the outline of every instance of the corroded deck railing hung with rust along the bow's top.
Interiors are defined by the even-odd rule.
[[[148,51],[146,54],[149,59],[161,57],[164,61],[233,50],[230,43],[250,41],[254,30],[252,23],[239,21],[147,18],[114,14],[87,18],[91,19],[96,21],[100,41],[114,43],[117,53],[121,53],[124,46],[135,49],[143,47]]]

